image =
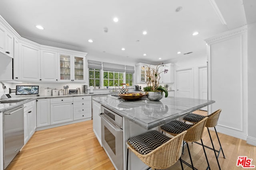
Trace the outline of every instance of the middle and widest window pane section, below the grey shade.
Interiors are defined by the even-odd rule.
[[[111,72],[111,71],[104,71],[103,72],[103,86],[117,86],[123,84],[124,80],[124,73],[123,72]]]

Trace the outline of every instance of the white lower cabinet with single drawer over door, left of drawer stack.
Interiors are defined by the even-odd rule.
[[[51,125],[73,121],[73,98],[51,98],[50,99]]]

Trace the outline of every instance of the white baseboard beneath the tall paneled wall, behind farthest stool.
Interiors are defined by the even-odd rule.
[[[212,130],[212,128],[211,128],[211,130]],[[239,139],[242,139],[242,140],[245,140],[245,141],[247,139],[247,134],[246,133],[235,130],[235,129],[231,129],[231,128],[228,128],[228,127],[223,127],[223,126],[217,125],[216,130],[219,133],[223,133],[225,135],[236,137],[236,138],[239,138]]]

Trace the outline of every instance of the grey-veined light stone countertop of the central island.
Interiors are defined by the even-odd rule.
[[[214,100],[177,97],[163,98],[159,102],[153,102],[147,98],[137,101],[126,101],[108,96],[95,96],[92,100],[145,129],[152,129],[215,103]]]

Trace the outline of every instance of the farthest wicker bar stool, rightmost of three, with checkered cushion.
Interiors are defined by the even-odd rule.
[[[207,130],[208,130],[208,133],[209,133],[209,136],[210,136],[210,140],[211,140],[211,143],[212,143],[212,148],[208,147],[208,146],[205,146],[206,148],[208,149],[211,149],[211,150],[214,150],[214,154],[215,154],[215,157],[216,157],[216,160],[217,160],[217,163],[218,163],[218,166],[219,166],[219,169],[220,169],[220,163],[218,161],[218,158],[219,158],[219,155],[220,155],[220,150],[222,151],[222,154],[223,154],[223,157],[225,158],[225,155],[224,155],[224,152],[223,152],[223,149],[222,149],[222,146],[220,144],[220,139],[218,137],[218,133],[216,131],[216,128],[215,126],[217,125],[218,123],[218,119],[220,117],[220,112],[221,112],[221,109],[218,109],[216,111],[214,111],[212,114],[208,115],[208,116],[203,116],[203,115],[198,115],[198,114],[195,114],[195,113],[190,113],[188,115],[186,115],[183,120],[186,122],[190,122],[190,123],[197,123],[198,121],[200,121],[201,119],[204,119],[204,117],[208,117],[207,121],[206,121],[206,127],[207,127]],[[217,136],[217,139],[218,139],[218,142],[219,142],[219,145],[220,145],[220,149],[219,150],[216,150],[214,148],[214,145],[213,145],[213,142],[212,142],[212,137],[211,137],[211,134],[210,134],[210,131],[209,131],[209,127],[214,127],[214,130],[215,130],[215,133],[216,133],[216,136]],[[197,142],[195,142],[197,143]],[[197,143],[199,145],[202,145],[201,143]],[[218,152],[218,155],[216,154],[216,152]]]

